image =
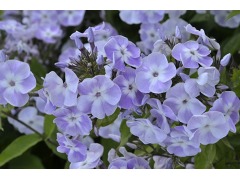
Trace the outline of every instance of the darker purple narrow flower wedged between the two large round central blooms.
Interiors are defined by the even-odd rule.
[[[141,93],[135,83],[135,69],[126,67],[125,72],[120,74],[113,80],[121,89],[122,96],[119,106],[124,109],[134,109],[140,106],[143,100],[143,93]]]

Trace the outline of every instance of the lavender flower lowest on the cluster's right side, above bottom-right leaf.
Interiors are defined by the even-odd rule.
[[[191,140],[193,134],[185,126],[177,126],[166,140],[167,151],[179,157],[194,156],[201,152],[200,144]]]

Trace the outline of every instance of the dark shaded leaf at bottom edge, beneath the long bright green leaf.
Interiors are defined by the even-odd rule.
[[[33,154],[24,153],[9,162],[11,169],[44,169],[41,159]]]

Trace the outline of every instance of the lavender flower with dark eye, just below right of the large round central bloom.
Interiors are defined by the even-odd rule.
[[[185,91],[184,83],[178,83],[169,89],[163,104],[170,107],[182,123],[187,123],[193,115],[200,115],[206,110],[198,99],[190,97]]]

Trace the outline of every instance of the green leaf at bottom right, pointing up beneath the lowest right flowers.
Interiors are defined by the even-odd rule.
[[[216,156],[216,146],[214,144],[209,144],[207,146],[201,146],[201,149],[201,153],[197,154],[194,158],[195,168],[212,168],[212,164]]]

